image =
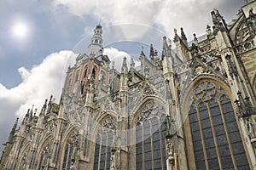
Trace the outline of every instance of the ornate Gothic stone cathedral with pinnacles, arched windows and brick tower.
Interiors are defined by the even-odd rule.
[[[256,1],[229,24],[211,15],[203,37],[175,29],[120,71],[96,26],[59,103],[15,122],[0,169],[256,169]]]

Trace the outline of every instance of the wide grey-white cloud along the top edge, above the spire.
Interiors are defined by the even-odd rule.
[[[102,20],[104,26],[141,25],[139,29],[122,27],[125,37],[142,35],[147,31],[143,26],[160,27],[167,36],[173,37],[173,28],[183,27],[190,40],[193,33],[197,36],[205,34],[207,24],[212,24],[210,12],[224,5],[223,0],[98,0],[93,3],[90,0],[55,0],[53,4],[55,8],[58,5],[66,6],[72,14],[81,18],[93,14]],[[225,11],[220,12],[223,14]]]

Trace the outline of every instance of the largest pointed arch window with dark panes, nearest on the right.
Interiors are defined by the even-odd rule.
[[[201,81],[189,111],[196,169],[249,169],[236,116],[224,88]]]

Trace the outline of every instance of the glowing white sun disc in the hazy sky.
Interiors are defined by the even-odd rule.
[[[12,34],[14,37],[24,39],[28,33],[28,26],[24,22],[17,22],[12,27]]]

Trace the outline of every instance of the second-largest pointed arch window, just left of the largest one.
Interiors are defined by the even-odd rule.
[[[166,119],[164,107],[148,101],[136,127],[136,169],[166,169]]]

